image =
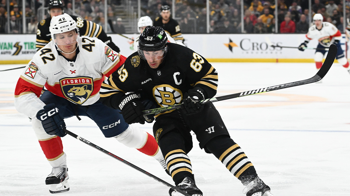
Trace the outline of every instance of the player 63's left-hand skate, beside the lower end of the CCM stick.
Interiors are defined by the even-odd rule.
[[[203,193],[201,190],[199,190],[195,184],[195,181],[192,179],[192,177],[186,176],[183,181],[177,185],[177,188],[180,190],[183,190],[184,192],[192,195],[192,196],[203,196]],[[170,188],[169,190],[170,196],[183,196],[181,193],[177,192],[176,190]]]

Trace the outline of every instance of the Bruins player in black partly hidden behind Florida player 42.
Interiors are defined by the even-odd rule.
[[[36,33],[36,50],[40,50],[47,43],[51,41],[51,34],[49,31],[51,18],[64,13],[64,6],[61,0],[50,0],[48,4],[48,13],[50,17],[40,21],[38,24],[38,30]],[[80,17],[71,15],[73,20],[76,21],[79,28],[80,35],[88,37],[97,37],[105,44],[107,44],[112,50],[120,52],[120,49],[116,44],[112,42],[112,38],[108,37],[105,31],[99,24],[91,21],[83,20]],[[92,27],[92,28],[91,28]]]

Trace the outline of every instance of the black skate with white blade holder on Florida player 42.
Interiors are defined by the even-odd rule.
[[[62,193],[69,191],[68,168],[66,165],[52,168],[45,180],[45,184],[50,184],[50,193]]]

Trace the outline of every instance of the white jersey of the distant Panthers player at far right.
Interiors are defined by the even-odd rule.
[[[330,44],[334,42],[334,39],[341,39],[341,32],[329,22],[322,22],[322,29],[318,30],[316,25],[314,24],[309,28],[309,31],[306,34],[306,38],[317,39],[318,42],[324,46],[329,48]]]

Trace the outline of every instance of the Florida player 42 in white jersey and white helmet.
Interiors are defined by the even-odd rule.
[[[45,157],[52,166],[45,183],[50,193],[69,190],[64,137],[64,118],[87,116],[107,138],[154,156],[165,169],[165,160],[154,137],[129,126],[119,110],[99,101],[104,81],[123,65],[125,57],[96,38],[79,36],[76,22],[68,14],[52,17],[52,41],[29,62],[15,89],[16,109],[32,118],[32,125]],[[43,87],[45,91],[40,98]],[[62,185],[57,188],[57,185]]]

